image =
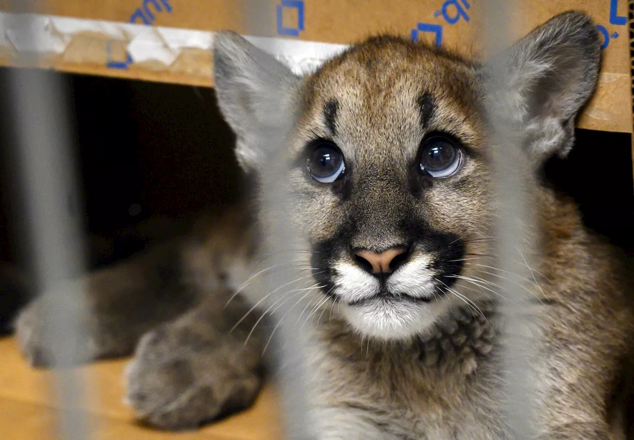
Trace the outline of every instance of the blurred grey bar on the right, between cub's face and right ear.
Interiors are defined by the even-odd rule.
[[[499,54],[510,44],[509,23],[517,3],[513,0],[486,0],[483,3],[484,44],[489,56]],[[534,320],[527,305],[531,301],[524,280],[530,279],[529,261],[533,255],[534,237],[531,218],[531,180],[526,177],[527,158],[519,148],[519,139],[508,119],[501,115],[496,96],[505,93],[507,71],[504,60],[495,58],[490,66],[487,112],[492,125],[493,170],[495,180],[496,257],[501,273],[508,274],[498,283],[502,311],[504,377],[501,411],[508,423],[510,438],[534,438],[532,417],[533,388],[531,361],[533,358]]]

